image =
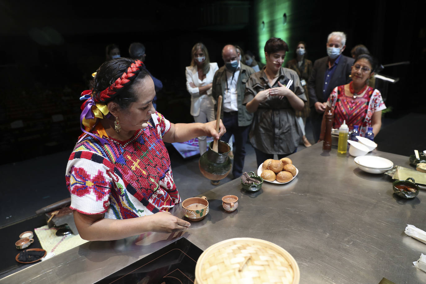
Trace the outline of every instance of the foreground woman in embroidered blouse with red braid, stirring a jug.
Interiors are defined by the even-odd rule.
[[[215,121],[173,124],[155,111],[154,83],[143,63],[127,58],[99,67],[85,91],[83,135],[66,168],[71,209],[81,237],[117,240],[144,232],[190,226],[170,214],[181,201],[163,141],[201,135],[219,139]],[[220,133],[225,132],[221,123]],[[123,219],[123,220],[116,220]]]

